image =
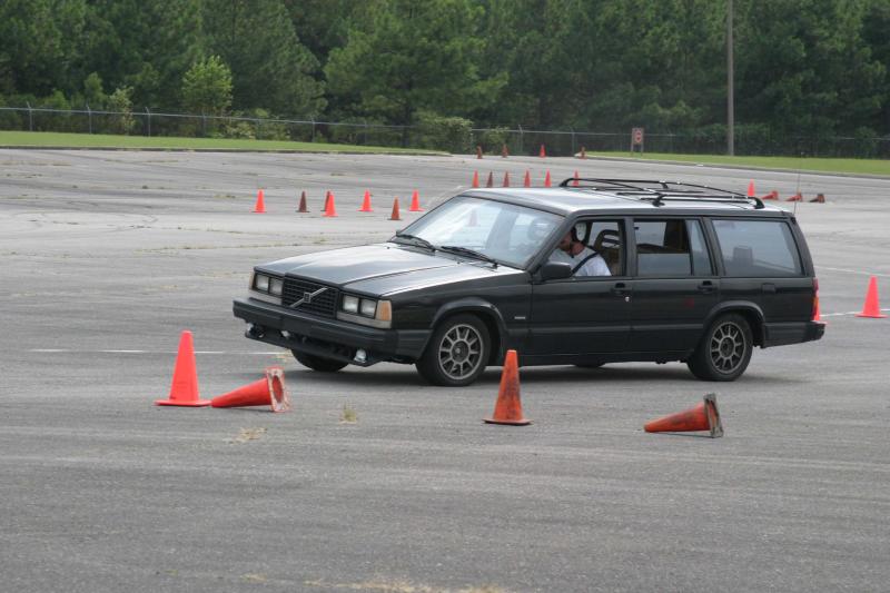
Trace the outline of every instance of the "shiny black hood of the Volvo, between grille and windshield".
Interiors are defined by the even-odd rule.
[[[279,259],[260,268],[377,295],[492,276],[506,270],[518,271],[504,266],[493,268],[476,261],[458,261],[423,249],[406,249],[396,244],[317,251]]]

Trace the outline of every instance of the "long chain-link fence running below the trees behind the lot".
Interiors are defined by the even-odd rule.
[[[359,146],[424,148],[452,152],[572,156],[590,152],[630,152],[631,134],[515,128],[472,128],[455,134],[431,126],[390,126],[367,120],[322,121],[247,116],[209,116],[142,110],[107,111],[44,107],[0,107],[0,130],[30,130],[189,138],[240,138],[334,142]],[[710,126],[683,134],[645,134],[646,152],[722,155],[725,127]],[[735,154],[756,156],[808,156],[835,158],[890,158],[890,136],[788,136],[763,126],[736,127]]]

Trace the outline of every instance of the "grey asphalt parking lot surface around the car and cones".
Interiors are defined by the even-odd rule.
[[[541,185],[798,189],[821,342],[735,383],[674,363],[521,372],[526,427],[413,367],[325,375],[231,315],[255,264],[386,239],[490,171]],[[266,214],[254,214],[259,188]],[[374,213],[358,213],[364,191]],[[300,191],[309,214],[297,214]],[[338,216],[324,218],[324,192]],[[0,150],[0,589],[887,591],[890,180],[633,162]],[[335,260],[336,254],[330,257]],[[336,263],[336,261],[334,261]],[[887,307],[888,305],[883,306]],[[294,409],[162,408],[179,335],[202,397],[286,369]],[[725,436],[643,424],[716,391]],[[355,422],[343,422],[355,416]]]

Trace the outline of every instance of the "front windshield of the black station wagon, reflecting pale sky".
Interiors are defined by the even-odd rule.
[[[562,221],[562,216],[533,208],[457,196],[403,233],[436,248],[472,249],[507,266],[524,268]]]

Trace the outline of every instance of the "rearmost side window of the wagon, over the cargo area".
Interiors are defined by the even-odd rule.
[[[801,276],[791,229],[783,220],[714,219],[726,276]]]

